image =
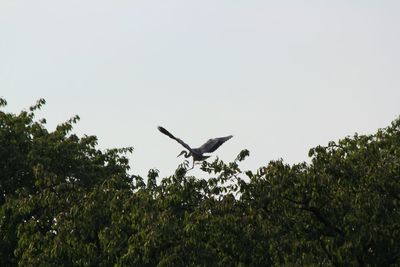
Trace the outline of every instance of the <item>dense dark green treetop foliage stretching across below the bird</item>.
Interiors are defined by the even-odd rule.
[[[1,266],[400,266],[400,119],[242,172],[128,173],[96,137],[0,111]],[[0,105],[6,102],[0,99]]]

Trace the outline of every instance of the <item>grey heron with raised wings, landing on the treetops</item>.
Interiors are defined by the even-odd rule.
[[[203,161],[203,160],[206,160],[206,159],[208,159],[210,157],[210,156],[204,155],[205,153],[214,152],[223,143],[225,143],[226,141],[228,141],[229,139],[231,139],[233,137],[233,135],[228,135],[228,136],[225,136],[225,137],[211,138],[207,142],[205,142],[202,146],[200,146],[198,148],[191,148],[184,141],[182,141],[181,139],[175,137],[173,134],[168,132],[167,129],[165,129],[164,127],[158,126],[157,128],[161,133],[165,134],[169,138],[174,139],[179,144],[181,144],[184,148],[189,150],[189,152],[187,152],[186,150],[182,150],[182,152],[179,153],[179,155],[177,157],[182,156],[182,155],[184,155],[185,158],[192,157],[193,158],[192,169],[194,168],[194,164],[195,164],[196,161]]]

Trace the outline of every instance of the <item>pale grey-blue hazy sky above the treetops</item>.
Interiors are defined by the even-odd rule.
[[[216,156],[244,170],[400,115],[400,1],[0,0],[0,97],[39,98],[50,130],[133,146],[131,172],[161,176],[182,147],[234,135]],[[198,172],[198,169],[193,173]]]

